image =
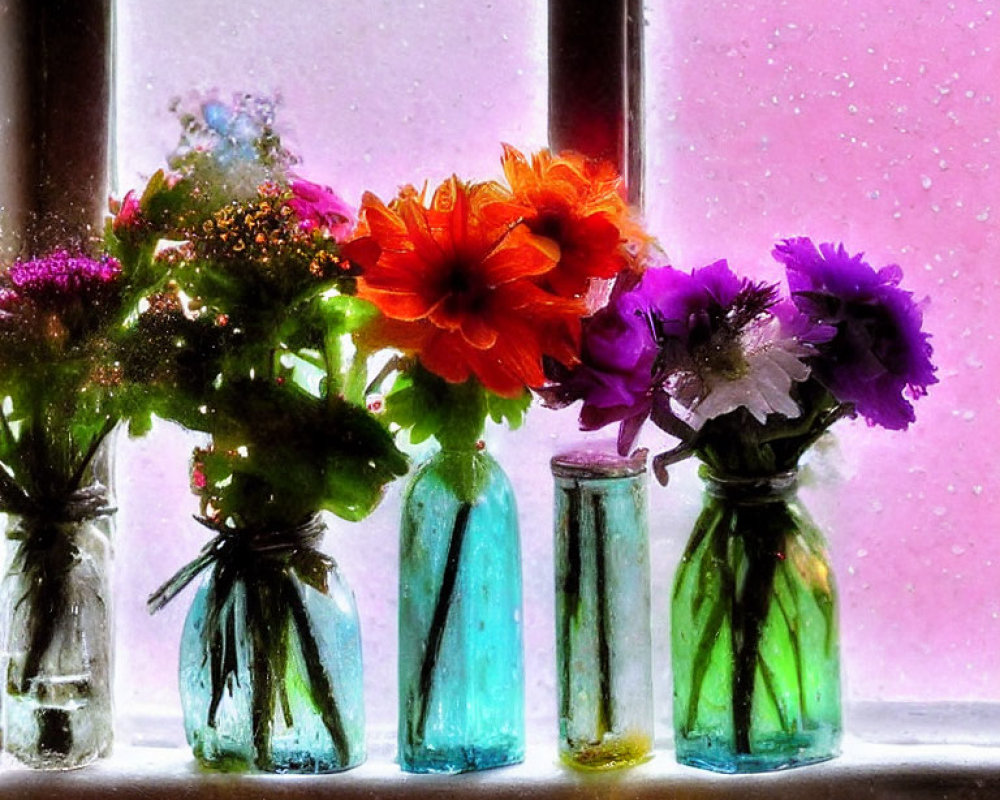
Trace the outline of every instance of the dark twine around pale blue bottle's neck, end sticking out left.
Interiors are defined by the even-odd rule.
[[[315,576],[326,574],[333,559],[320,553],[316,546],[323,538],[326,525],[319,514],[313,514],[297,525],[287,528],[230,527],[207,517],[195,520],[216,535],[202,548],[197,558],[181,567],[146,600],[146,608],[154,614],[180,594],[191,581],[216,563],[253,558],[299,559],[296,572]],[[303,575],[305,577],[305,575]],[[315,586],[314,581],[309,581]]]

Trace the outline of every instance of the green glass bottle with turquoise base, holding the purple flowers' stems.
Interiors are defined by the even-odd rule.
[[[702,476],[704,507],[672,600],[677,759],[736,773],[833,758],[836,593],[796,474]]]

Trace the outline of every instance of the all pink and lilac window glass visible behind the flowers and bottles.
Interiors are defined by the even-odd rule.
[[[540,0],[169,0],[118,9],[118,188],[176,141],[172,97],[280,93],[304,176],[356,200],[457,172],[498,177],[499,143],[544,144]],[[804,496],[829,531],[842,595],[846,697],[1000,697],[1000,488],[993,414],[1000,299],[994,0],[650,3],[648,220],[673,263],[727,257],[778,277],[780,237],[843,240],[930,296],[941,383],[905,434],[842,423]],[[305,6],[302,6],[305,8]],[[350,9],[349,11],[347,9]],[[577,438],[541,408],[490,445],[514,479],[525,566],[529,715],[555,725],[551,478]],[[657,438],[648,436],[656,446]],[[189,598],[150,619],[145,595],[205,534],[190,520],[193,440],[168,426],[123,439],[118,541],[124,724],[177,713],[177,638]],[[333,521],[326,549],[358,596],[373,729],[395,721],[396,515],[401,487],[364,523]],[[650,487],[657,712],[669,718],[669,585],[698,510],[694,465]],[[138,727],[134,728],[138,731]],[[176,738],[170,725],[166,738]],[[138,733],[137,733],[138,736]]]

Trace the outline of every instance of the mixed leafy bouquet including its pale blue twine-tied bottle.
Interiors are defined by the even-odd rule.
[[[169,268],[131,377],[153,413],[211,437],[192,488],[214,538],[149,601],[211,568],[182,643],[189,741],[207,764],[331,771],[364,757],[360,640],[356,612],[335,616],[353,598],[317,514],[363,518],[406,462],[351,400],[363,376],[352,391],[346,355],[369,316],[341,244],[352,213],[292,175],[272,111],[245,98],[182,117],[169,172],[112,227],[123,261]]]

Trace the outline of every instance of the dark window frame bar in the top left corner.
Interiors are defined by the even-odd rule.
[[[101,233],[108,191],[112,0],[9,0],[11,122],[0,146],[7,246],[76,249]],[[16,240],[16,241],[12,241]]]

